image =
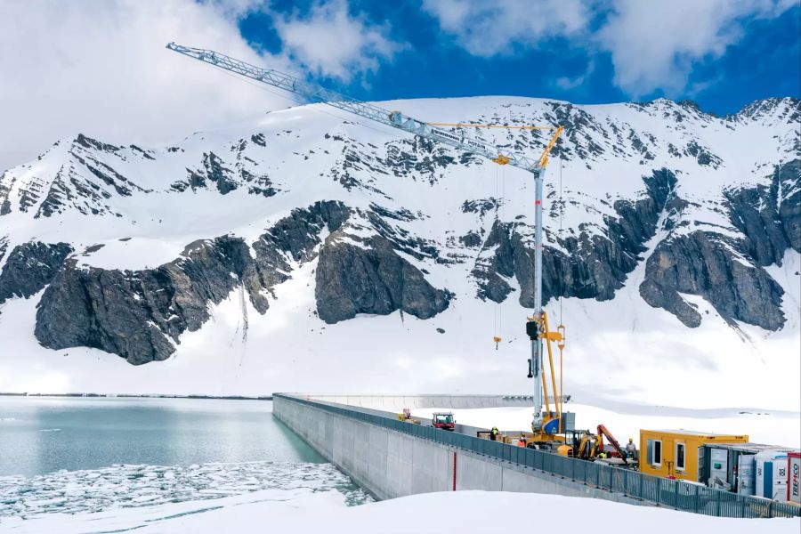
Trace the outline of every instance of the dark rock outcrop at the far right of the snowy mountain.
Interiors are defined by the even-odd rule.
[[[682,293],[702,296],[725,320],[778,330],[784,291],[762,266],[781,264],[788,248],[801,252],[801,160],[777,167],[769,185],[729,190],[725,198],[742,238],[693,231],[663,240],[648,258],[640,295],[688,327],[698,327],[701,316]]]

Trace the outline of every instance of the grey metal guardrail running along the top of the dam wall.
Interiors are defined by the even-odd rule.
[[[276,399],[298,402],[348,417],[370,425],[382,426],[424,440],[431,440],[457,449],[465,449],[487,457],[583,482],[602,490],[639,498],[658,506],[667,506],[694,514],[716,517],[798,517],[801,506],[766,498],[738,495],[696,484],[665,479],[651,474],[629,471],[610,465],[562,457],[541,450],[526,449],[499,441],[482,440],[466,434],[453,433],[432,426],[421,426],[349,409],[322,401],[309,401],[285,393],[275,393]]]

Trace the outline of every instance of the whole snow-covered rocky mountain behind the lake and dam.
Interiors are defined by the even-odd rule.
[[[797,404],[799,101],[381,105],[565,126],[544,275],[569,388]],[[529,174],[323,105],[158,148],[78,134],[0,176],[0,391],[525,391],[533,231]]]

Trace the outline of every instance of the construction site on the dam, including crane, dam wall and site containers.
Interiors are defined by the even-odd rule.
[[[562,125],[424,122],[302,79],[261,69],[222,53],[170,43],[167,48],[217,69],[321,102],[419,138],[514,166],[534,182],[534,306],[520,321],[529,340],[521,353],[530,394],[347,395],[276,393],[275,415],[321,455],[379,499],[445,490],[507,490],[665,506],[724,517],[801,515],[801,451],[752,443],[702,429],[643,428],[619,441],[603,422],[577,428],[562,389],[565,325],[553,326],[543,303],[543,183]],[[527,129],[548,134],[540,154],[499,150],[465,132]],[[581,336],[574,333],[573,336]],[[496,346],[504,343],[498,332]],[[526,357],[522,357],[526,354]],[[526,406],[529,428],[462,425],[450,409]]]

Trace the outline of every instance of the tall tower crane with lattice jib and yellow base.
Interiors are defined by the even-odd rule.
[[[398,110],[384,109],[375,104],[358,101],[345,96],[341,93],[330,91],[320,85],[312,84],[297,77],[284,74],[275,69],[262,69],[239,61],[223,53],[213,50],[191,48],[182,44],[169,43],[166,45],[169,50],[182,53],[198,61],[212,65],[219,69],[227,70],[243,77],[254,79],[263,84],[278,87],[290,93],[295,93],[303,97],[306,101],[322,102],[337,109],[348,111],[359,117],[368,118],[378,123],[392,126],[415,134],[419,137],[439,142],[473,154],[478,154],[484,158],[489,158],[498,165],[511,165],[530,172],[534,177],[534,315],[527,318],[526,334],[531,342],[531,357],[529,359],[528,376],[534,379],[534,416],[531,422],[531,429],[534,433],[534,442],[554,441],[556,434],[562,433],[562,396],[556,388],[556,377],[554,375],[554,354],[551,343],[555,342],[560,351],[564,347],[565,336],[564,327],[551,330],[548,326],[546,311],[542,303],[542,198],[543,198],[543,178],[548,165],[548,157],[554,149],[556,140],[562,134],[562,126],[511,126],[526,129],[549,130],[553,131],[550,141],[546,144],[545,150],[539,158],[530,158],[523,154],[498,150],[491,144],[480,142],[465,136],[453,134],[439,126],[452,127],[510,127],[505,125],[468,125],[468,124],[446,124],[446,123],[426,123],[416,118],[409,117]],[[553,387],[554,411],[550,407],[550,395],[548,394],[548,384],[546,382],[545,369],[543,368],[543,340],[546,341],[548,361],[550,364],[551,385]]]

